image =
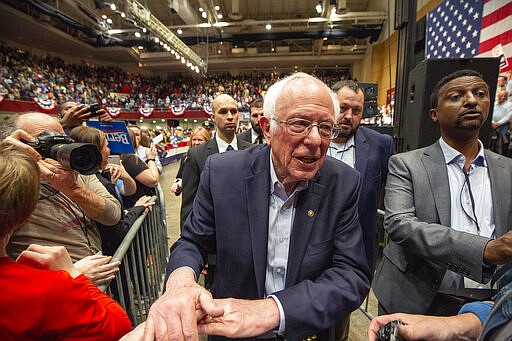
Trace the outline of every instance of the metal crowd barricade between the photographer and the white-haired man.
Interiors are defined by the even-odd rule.
[[[156,204],[133,223],[111,262],[120,261],[119,272],[110,283],[100,286],[128,313],[134,326],[144,322],[149,308],[162,293],[169,254],[164,202],[159,195]]]

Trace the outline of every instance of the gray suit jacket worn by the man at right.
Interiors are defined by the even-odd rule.
[[[512,160],[485,150],[495,234],[512,226]],[[372,283],[390,313],[424,314],[446,270],[488,280],[483,251],[488,238],[450,228],[450,186],[439,142],[389,160],[384,228],[389,243]]]

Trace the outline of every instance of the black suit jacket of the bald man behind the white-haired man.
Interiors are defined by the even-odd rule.
[[[236,141],[239,150],[253,146],[251,143],[243,141],[238,137]],[[218,152],[219,146],[215,138],[212,138],[202,145],[189,149],[183,167],[180,226],[183,226],[190,211],[192,211],[192,203],[196,197],[197,186],[199,185],[199,179],[206,159],[208,156],[217,154]]]

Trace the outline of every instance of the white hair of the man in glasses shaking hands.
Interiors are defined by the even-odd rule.
[[[265,100],[263,101],[263,115],[267,117],[270,122],[270,133],[272,135],[275,134],[277,127],[276,122],[272,119],[277,116],[277,101],[279,100],[279,97],[281,97],[283,89],[285,88],[285,86],[288,86],[288,83],[297,82],[301,80],[314,81],[320,84],[331,96],[332,103],[334,106],[334,118],[337,118],[339,116],[340,104],[338,98],[336,97],[336,93],[334,93],[334,91],[332,91],[324,82],[322,82],[318,78],[308,75],[307,73],[304,72],[296,72],[274,83],[270,88],[268,88],[267,94],[265,95]]]

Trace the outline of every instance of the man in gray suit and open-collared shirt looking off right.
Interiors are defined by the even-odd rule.
[[[490,96],[475,71],[444,77],[429,111],[441,138],[390,158],[389,243],[372,284],[379,315],[454,315],[464,303],[490,299],[482,283],[512,259],[512,160],[478,140]]]

